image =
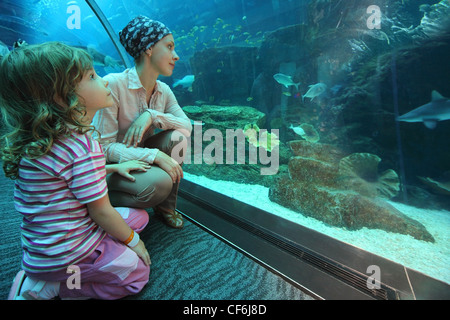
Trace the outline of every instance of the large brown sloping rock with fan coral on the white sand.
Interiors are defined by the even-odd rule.
[[[422,224],[379,196],[391,194],[392,188],[395,191],[396,175],[390,170],[378,175],[380,160],[377,156],[345,155],[334,146],[304,140],[291,141],[290,147],[295,156],[289,160],[288,174],[280,175],[271,185],[269,198],[272,201],[348,230],[382,229],[435,241]],[[368,190],[360,188],[359,184],[358,188],[343,187],[346,177],[353,177]],[[373,182],[366,180],[369,178]]]

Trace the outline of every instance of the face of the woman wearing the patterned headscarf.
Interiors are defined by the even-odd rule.
[[[175,52],[175,41],[171,34],[158,41],[151,49],[150,63],[159,74],[170,77],[175,68],[175,62],[180,57]]]

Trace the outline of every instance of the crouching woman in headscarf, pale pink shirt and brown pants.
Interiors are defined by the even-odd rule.
[[[141,160],[152,167],[133,173],[135,181],[108,176],[110,197],[115,206],[152,207],[166,224],[181,228],[175,208],[184,155],[173,157],[172,150],[186,150],[187,140],[179,138],[189,136],[192,125],[169,86],[157,80],[171,76],[179,59],[174,39],[164,24],[144,16],[130,21],[119,36],[136,66],[105,77],[114,105],[98,112],[92,124],[101,133],[108,162]],[[162,132],[155,134],[155,129]]]

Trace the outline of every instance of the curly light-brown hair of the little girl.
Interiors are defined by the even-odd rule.
[[[59,42],[17,48],[0,62],[0,109],[9,131],[2,137],[5,175],[18,177],[22,157],[45,155],[55,139],[83,125],[85,107],[75,92],[93,68],[89,54]]]

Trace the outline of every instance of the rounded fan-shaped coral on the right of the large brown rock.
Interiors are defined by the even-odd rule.
[[[341,159],[338,177],[341,186],[368,197],[395,197],[400,190],[398,175],[392,169],[378,174],[380,161],[380,157],[371,153],[353,153]]]

